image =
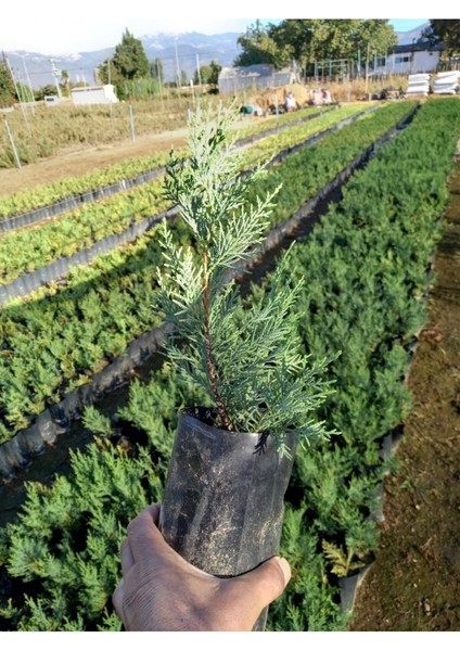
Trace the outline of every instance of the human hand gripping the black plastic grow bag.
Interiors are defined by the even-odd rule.
[[[273,557],[233,578],[188,563],[163,538],[152,505],[128,525],[123,578],[113,595],[126,630],[252,630],[260,612],[284,590],[291,569]]]

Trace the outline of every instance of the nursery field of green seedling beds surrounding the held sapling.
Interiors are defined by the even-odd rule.
[[[281,541],[293,579],[267,627],[460,630],[460,102],[307,114],[241,153],[241,170],[272,159],[248,206],[282,184],[242,284],[244,309],[265,301],[296,240],[289,265],[306,281],[296,307],[303,350],[329,360],[334,387],[316,417],[336,433],[296,456]],[[3,219],[21,212],[15,205],[47,205],[40,194],[52,196],[54,181],[65,196],[71,177],[112,179],[115,164],[143,166],[156,154],[163,164],[171,143],[184,152],[184,136],[0,170]],[[150,181],[0,235],[0,281],[170,209],[161,188]],[[169,222],[189,246],[184,226]],[[126,524],[162,500],[179,409],[208,400],[158,350],[157,240],[153,226],[0,307],[0,630],[120,629],[111,595]],[[34,454],[24,457],[40,448],[37,432],[61,450],[41,478]],[[65,454],[67,435],[77,449]],[[52,446],[41,457],[52,459]],[[344,585],[358,575],[352,609]]]

